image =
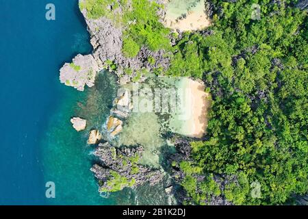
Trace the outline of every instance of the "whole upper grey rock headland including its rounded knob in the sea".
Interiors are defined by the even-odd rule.
[[[79,0],[79,5],[84,1]],[[163,1],[157,0],[157,3],[163,3]],[[121,15],[121,10],[120,7],[116,12]],[[72,63],[76,62],[81,70],[74,69],[72,64],[64,64],[60,70],[60,81],[67,86],[83,91],[84,85],[91,87],[95,74],[103,69],[116,73],[120,84],[129,83],[132,80],[142,82],[146,79],[146,74],[155,68],[166,70],[170,66],[170,58],[164,49],[151,51],[147,47],[142,47],[136,57],[125,56],[122,51],[125,27],[116,25],[105,16],[98,19],[89,18],[86,9],[81,9],[81,13],[88,26],[93,52],[91,55],[79,54],[73,59]],[[162,18],[164,17],[164,10],[161,9],[158,13]],[[171,35],[170,38],[172,38]],[[93,75],[88,73],[91,69],[93,69]]]

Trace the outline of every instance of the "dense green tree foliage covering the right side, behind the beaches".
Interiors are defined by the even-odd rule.
[[[220,191],[234,204],[291,203],[308,191],[307,12],[292,1],[214,3],[211,33],[185,34],[169,71],[203,77],[213,96],[207,140],[192,143],[191,166],[235,177]],[[259,20],[252,3],[261,5]],[[194,203],[217,192],[202,189],[213,177],[186,175]],[[260,197],[251,195],[253,182]]]

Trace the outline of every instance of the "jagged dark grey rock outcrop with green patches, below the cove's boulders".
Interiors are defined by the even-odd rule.
[[[135,188],[143,183],[155,185],[164,177],[160,170],[138,164],[143,148],[115,148],[108,142],[99,144],[94,155],[101,164],[92,166],[91,171],[99,179],[100,192],[116,192],[125,187]]]

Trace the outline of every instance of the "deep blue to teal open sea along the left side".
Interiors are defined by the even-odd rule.
[[[47,3],[55,5],[55,21],[45,19]],[[92,49],[77,0],[0,0],[0,5],[0,204],[112,203],[98,195],[90,160],[83,159],[90,149],[75,145],[71,153],[73,143],[65,147],[63,138],[86,140],[68,129],[72,106],[85,94],[58,79],[64,62]],[[45,197],[47,181],[55,181],[54,200]]]

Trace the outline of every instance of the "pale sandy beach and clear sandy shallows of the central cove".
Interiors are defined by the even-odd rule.
[[[202,138],[207,128],[207,111],[210,104],[210,96],[205,92],[203,83],[188,77],[179,79],[162,77],[159,82],[152,82],[153,84],[151,80],[147,81],[146,84],[143,84],[144,87],[140,87],[140,89],[150,88],[155,83],[164,84],[166,89],[175,88],[177,93],[175,95],[178,100],[175,111],[169,112],[172,115],[170,118],[168,116],[160,118],[164,120],[164,124],[160,124],[161,120],[159,120],[159,116],[155,112],[132,112],[123,125],[123,131],[120,133],[116,144],[118,146],[138,144],[144,146],[144,156],[140,162],[159,167],[159,149],[165,144],[161,136],[162,130],[172,131],[192,138]],[[125,88],[128,90],[132,89],[129,85],[125,86]],[[169,97],[171,96],[173,96],[173,93],[170,91]],[[149,105],[153,104],[152,98],[152,96],[149,97]],[[135,104],[138,104],[140,108],[140,103],[144,100],[144,98],[140,98]],[[174,99],[172,98],[172,100]],[[137,108],[135,105],[134,109]]]

